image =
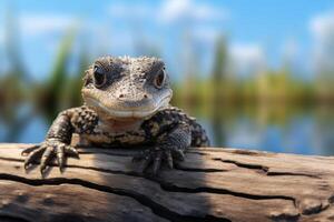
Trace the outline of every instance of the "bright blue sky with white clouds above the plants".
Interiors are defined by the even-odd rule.
[[[37,79],[48,74],[61,39],[73,26],[80,33],[73,54],[82,46],[91,58],[157,50],[176,78],[194,69],[181,65],[193,60],[199,72],[208,73],[222,34],[239,72],[275,69],[288,59],[310,78],[315,61],[328,58],[333,9],[330,0],[0,1],[0,58],[6,63],[4,23],[10,11],[20,30],[24,62]]]

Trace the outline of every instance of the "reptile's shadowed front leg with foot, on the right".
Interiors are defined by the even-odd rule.
[[[144,172],[153,164],[153,173],[157,174],[161,162],[173,169],[174,160],[184,160],[184,151],[190,147],[191,131],[185,122],[178,123],[170,131],[158,137],[153,149],[144,151],[139,157],[135,157],[135,161],[143,161],[140,170]]]

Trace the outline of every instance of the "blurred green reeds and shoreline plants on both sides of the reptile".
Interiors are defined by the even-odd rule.
[[[16,36],[18,39],[16,33],[14,30],[8,30],[8,38]],[[12,69],[0,75],[2,115],[6,112],[9,120],[13,119],[18,105],[33,101],[35,110],[42,113],[48,121],[52,121],[60,110],[81,104],[81,79],[90,59],[81,44],[76,69],[70,73],[69,61],[73,59],[71,51],[75,37],[75,30],[69,30],[65,36],[49,78],[40,83],[29,81],[29,71],[20,58],[19,44],[13,42],[7,44]],[[147,49],[146,53],[149,54],[161,53],[156,48]],[[144,49],[139,51],[145,52]],[[222,104],[239,107],[244,104],[314,104],[334,101],[332,89],[334,71],[318,74],[314,82],[296,78],[286,68],[264,70],[262,73],[252,73],[247,78],[237,78],[236,73],[229,73],[227,70],[230,65],[227,51],[227,41],[222,37],[216,43],[213,69],[210,73],[207,73],[207,78],[198,73],[200,68],[196,67],[199,63],[196,53],[189,56],[190,60],[184,64],[190,68],[185,79],[173,84],[175,91],[173,103],[193,107],[193,110],[202,107],[195,112],[210,112],[210,115],[218,117],[217,113],[222,112]]]

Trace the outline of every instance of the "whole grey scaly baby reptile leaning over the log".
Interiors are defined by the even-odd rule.
[[[184,160],[186,148],[209,145],[195,119],[169,105],[168,75],[156,58],[99,58],[86,71],[82,97],[82,107],[59,113],[42,143],[22,151],[26,169],[40,162],[43,174],[56,158],[62,171],[67,157],[79,157],[73,133],[96,147],[149,147],[134,160],[154,174],[163,162],[171,169]]]

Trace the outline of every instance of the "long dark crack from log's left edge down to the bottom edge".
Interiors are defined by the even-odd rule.
[[[212,222],[226,222],[230,221],[226,218],[216,218],[214,215],[205,215],[203,218],[199,216],[191,216],[191,215],[181,215],[177,212],[170,211],[169,209],[163,206],[161,204],[153,201],[148,196],[137,193],[131,190],[127,189],[117,189],[117,188],[111,188],[108,185],[101,185],[97,183],[92,183],[86,180],[81,179],[67,179],[67,178],[51,178],[51,179],[27,179],[13,174],[7,174],[7,173],[0,173],[0,180],[7,180],[7,181],[14,181],[14,182],[20,182],[24,183],[28,185],[33,185],[33,186],[39,186],[39,185],[60,185],[60,184],[72,184],[72,185],[82,185],[87,189],[92,189],[106,193],[112,193],[117,195],[124,195],[128,198],[132,198],[140,204],[149,208],[156,215],[160,218],[168,219],[170,221],[176,221],[176,222],[190,222],[190,221],[212,221]]]

